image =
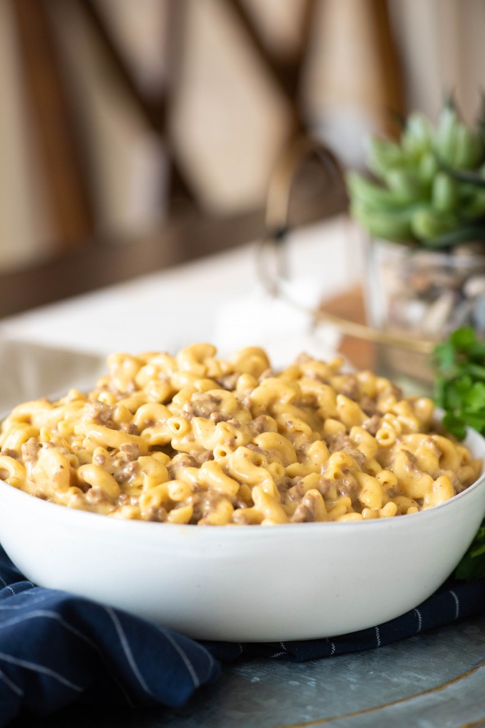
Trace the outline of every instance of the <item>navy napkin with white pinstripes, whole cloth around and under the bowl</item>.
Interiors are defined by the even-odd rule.
[[[220,662],[314,660],[409,637],[485,612],[485,580],[448,582],[396,620],[318,640],[199,643],[71,594],[37,587],[0,548],[0,728],[23,708],[47,714],[75,700],[111,705],[187,702],[217,679]]]

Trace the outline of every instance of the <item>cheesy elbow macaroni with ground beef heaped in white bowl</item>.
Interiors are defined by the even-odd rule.
[[[416,513],[481,472],[433,404],[369,371],[262,349],[108,357],[89,394],[17,406],[0,478],[68,507],[167,523],[270,525]]]

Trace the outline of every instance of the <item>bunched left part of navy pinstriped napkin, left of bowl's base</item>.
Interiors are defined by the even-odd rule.
[[[0,548],[0,727],[21,708],[47,714],[74,700],[183,705],[219,676],[204,646],[66,592],[37,587]]]

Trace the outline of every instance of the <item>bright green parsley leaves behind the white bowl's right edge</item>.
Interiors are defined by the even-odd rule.
[[[434,400],[443,424],[459,440],[466,427],[485,435],[485,341],[471,327],[458,328],[434,351]],[[485,577],[485,521],[455,571],[458,579]]]

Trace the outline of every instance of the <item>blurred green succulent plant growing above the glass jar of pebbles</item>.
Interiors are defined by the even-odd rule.
[[[428,248],[485,241],[485,114],[470,127],[451,98],[436,125],[410,114],[399,141],[369,141],[367,165],[373,179],[350,172],[347,186],[370,234]]]

